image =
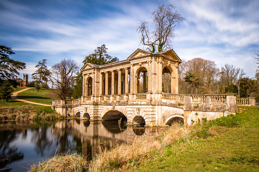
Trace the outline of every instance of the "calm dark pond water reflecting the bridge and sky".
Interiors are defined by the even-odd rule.
[[[82,153],[91,160],[99,146],[110,149],[157,131],[118,120],[0,123],[0,171],[27,171],[30,164],[67,152]]]

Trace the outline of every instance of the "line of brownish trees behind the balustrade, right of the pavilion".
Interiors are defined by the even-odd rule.
[[[242,68],[233,64],[216,63],[203,58],[183,61],[179,67],[179,92],[182,94],[226,94],[239,97],[257,97],[258,73],[254,78],[245,77]]]

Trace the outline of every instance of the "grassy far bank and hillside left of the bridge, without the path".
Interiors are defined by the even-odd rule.
[[[14,92],[28,87],[14,88]],[[36,96],[38,95],[38,96]],[[39,92],[35,88],[25,90],[18,94],[21,99],[51,105],[53,92],[47,89],[41,89]],[[0,121],[4,120],[55,120],[64,118],[51,109],[40,105],[28,104],[23,101],[9,99],[8,102],[0,102]]]

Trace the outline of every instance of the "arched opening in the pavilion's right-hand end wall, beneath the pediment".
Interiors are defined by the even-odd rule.
[[[167,66],[162,71],[162,91],[164,93],[171,93],[171,71]]]

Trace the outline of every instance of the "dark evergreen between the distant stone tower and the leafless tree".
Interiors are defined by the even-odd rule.
[[[35,88],[37,91],[39,91],[41,87],[47,87],[50,71],[48,70],[46,63],[46,59],[39,61],[35,66],[37,70],[32,74],[32,79],[35,80]]]

